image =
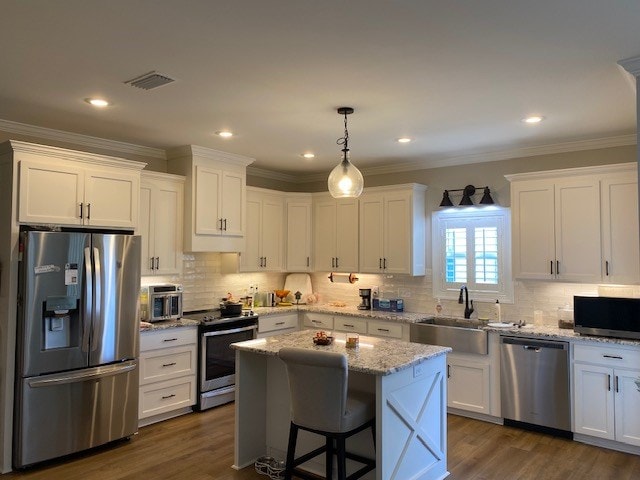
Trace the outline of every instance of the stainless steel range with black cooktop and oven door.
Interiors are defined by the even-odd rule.
[[[258,315],[251,311],[224,317],[220,310],[187,312],[184,318],[199,320],[198,402],[206,410],[235,399],[236,357],[230,345],[256,338]]]

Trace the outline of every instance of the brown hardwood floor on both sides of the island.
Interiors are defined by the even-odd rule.
[[[231,469],[233,404],[150,425],[128,442],[2,479],[265,480],[252,467]],[[449,416],[451,480],[632,480],[640,456]]]

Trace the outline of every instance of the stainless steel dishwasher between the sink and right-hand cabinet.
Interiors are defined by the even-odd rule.
[[[571,430],[567,342],[501,336],[500,365],[505,424]]]

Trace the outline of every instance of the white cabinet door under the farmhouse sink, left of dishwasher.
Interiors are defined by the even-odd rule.
[[[489,364],[447,358],[447,406],[489,414]]]

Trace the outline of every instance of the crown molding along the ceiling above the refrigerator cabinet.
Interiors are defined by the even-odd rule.
[[[17,133],[20,135],[28,135],[56,142],[70,143],[73,145],[81,145],[83,147],[100,148],[113,152],[128,153],[131,155],[141,155],[150,158],[159,158],[166,160],[166,153],[161,148],[143,147],[133,143],[118,142],[116,140],[107,140],[104,138],[91,137],[79,133],[64,132],[62,130],[54,130],[53,128],[37,127],[35,125],[27,125],[26,123],[13,122],[11,120],[0,119],[0,130]]]

